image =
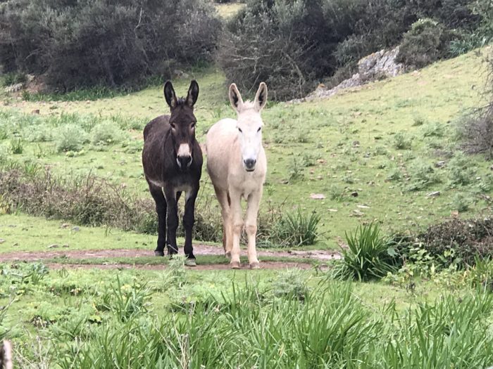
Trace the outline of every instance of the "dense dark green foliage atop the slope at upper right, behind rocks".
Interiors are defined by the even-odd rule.
[[[451,41],[487,33],[480,15],[486,13],[477,6],[473,0],[251,0],[229,22],[219,60],[243,89],[262,80],[277,100],[300,97],[338,68],[350,71],[361,57],[396,46],[420,18],[435,26],[413,26],[402,58],[420,67],[447,57]],[[411,60],[413,53],[420,60]]]

